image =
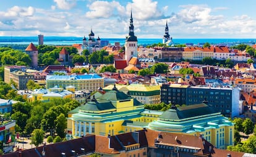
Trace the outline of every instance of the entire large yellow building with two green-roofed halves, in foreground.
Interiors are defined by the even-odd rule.
[[[74,138],[87,134],[117,135],[143,128],[201,134],[218,148],[234,144],[234,124],[207,104],[173,106],[165,112],[152,111],[144,109],[142,103],[115,86],[113,90],[70,111],[67,119],[68,136]]]

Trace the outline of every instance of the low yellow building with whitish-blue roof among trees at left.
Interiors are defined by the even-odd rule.
[[[64,90],[63,88],[49,88],[46,89],[36,89],[27,97],[28,102],[32,101],[49,101],[53,99],[75,99],[75,93],[69,90]]]

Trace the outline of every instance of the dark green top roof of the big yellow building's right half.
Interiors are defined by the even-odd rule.
[[[186,119],[189,117],[203,116],[207,114],[216,113],[214,108],[208,106],[207,104],[192,104],[189,106],[184,106],[180,108],[171,108],[168,111],[165,111],[160,119],[170,119],[170,120],[178,120],[178,119]]]

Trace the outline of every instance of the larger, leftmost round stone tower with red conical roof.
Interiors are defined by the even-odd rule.
[[[25,53],[27,53],[31,59],[32,68],[36,69],[38,67],[38,50],[35,45],[30,43],[30,45],[28,45],[28,47],[25,49]]]

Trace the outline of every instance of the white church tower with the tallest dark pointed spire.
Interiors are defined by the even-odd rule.
[[[137,36],[134,35],[134,20],[132,19],[132,11],[130,11],[130,26],[129,26],[129,36],[126,36],[125,48],[125,59],[128,64],[132,57],[137,57]]]

